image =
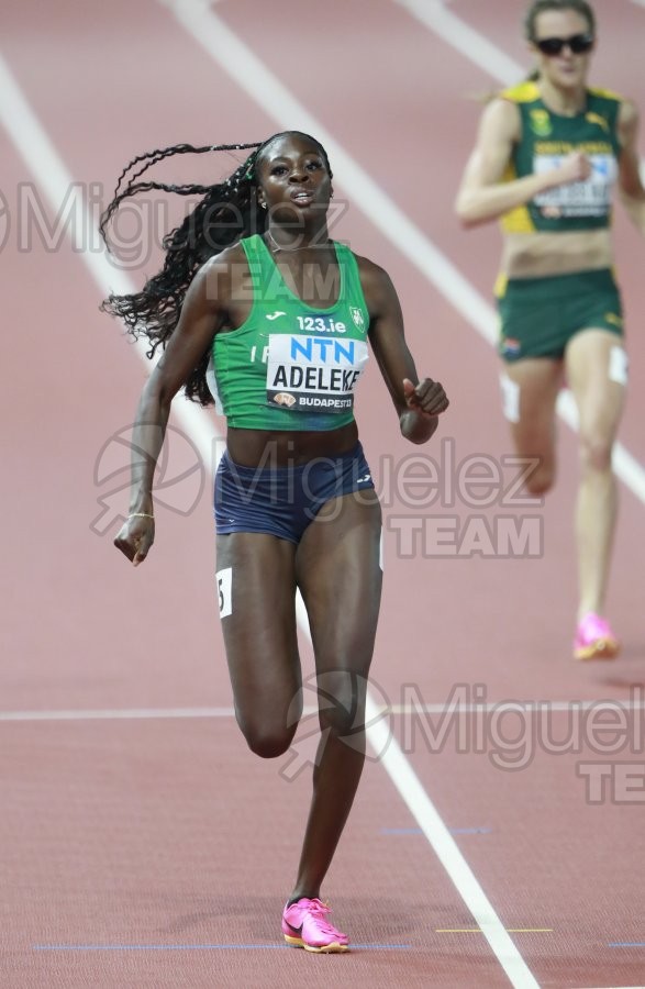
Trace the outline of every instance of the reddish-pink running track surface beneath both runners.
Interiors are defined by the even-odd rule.
[[[329,0],[324,9],[293,0],[212,3],[209,23],[226,41],[221,58],[235,59],[229,69],[169,3],[59,0],[38,8],[37,20],[32,5],[5,0],[0,55],[90,205],[104,201],[140,151],[262,140],[313,118],[338,152],[336,197],[351,202],[335,233],[391,273],[419,369],[441,378],[453,400],[422,456],[434,458],[444,486],[446,478],[457,485],[458,465],[470,456],[502,463],[510,445],[497,358],[474,326],[488,310],[464,295],[474,289],[488,304],[498,234],[464,234],[452,212],[479,113],[470,96],[493,88],[493,73],[393,0],[369,8]],[[178,10],[192,7],[185,0]],[[519,4],[455,0],[446,8],[459,19],[457,38],[470,26],[525,64]],[[636,70],[645,10],[631,0],[598,0],[597,9],[594,78],[645,109]],[[234,48],[233,40],[246,47]],[[301,111],[289,110],[278,89],[254,88],[253,58]],[[0,87],[4,114],[13,97]],[[609,602],[624,655],[611,666],[576,666],[574,434],[561,426],[560,477],[544,507],[507,510],[500,492],[483,511],[463,490],[451,504],[444,487],[440,508],[415,508],[411,475],[421,462],[410,459],[382,382],[368,373],[358,415],[387,520],[375,697],[396,705],[389,723],[403,765],[414,769],[488,898],[492,927],[510,932],[514,954],[500,959],[477,930],[453,881],[457,857],[437,857],[422,831],[433,832],[427,815],[416,801],[415,816],[392,784],[391,752],[368,763],[325,887],[358,947],[342,958],[282,947],[279,912],[299,853],[309,774],[289,779],[294,766],[287,759],[255,759],[231,715],[213,593],[210,478],[179,432],[179,408],[154,553],[134,571],[111,548],[123,498],[113,493],[125,476],[122,440],[145,367],[98,312],[94,242],[73,249],[65,230],[57,236],[65,197],[56,200],[56,192],[66,176],[35,143],[30,120],[19,114],[22,151],[9,120],[0,127],[2,985],[645,985],[645,636],[634,552],[645,536],[643,490],[623,485]],[[205,179],[212,162],[191,167]],[[364,210],[366,192],[371,208]],[[49,233],[38,222],[41,201]],[[385,223],[383,202],[398,210]],[[440,252],[427,271],[407,254],[401,224],[410,221]],[[633,380],[620,438],[642,469],[643,243],[621,215],[616,244]],[[154,252],[141,262],[125,273],[138,284],[154,268]],[[452,267],[440,269],[445,262]],[[460,301],[446,296],[454,286]],[[512,471],[503,477],[507,485]],[[492,525],[504,512],[535,515],[543,552],[442,558],[427,534],[409,546],[405,526],[433,511],[454,519],[464,537],[474,536],[474,518]],[[302,653],[311,673],[304,636]],[[427,710],[411,713],[413,702]],[[527,710],[535,702],[543,703],[540,714]],[[308,730],[311,718],[301,763]]]

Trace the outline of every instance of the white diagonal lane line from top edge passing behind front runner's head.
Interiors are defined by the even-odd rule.
[[[467,323],[489,344],[494,345],[498,337],[498,315],[490,303],[225,22],[212,11],[203,9],[199,0],[180,0],[179,3],[178,0],[166,0],[164,5],[169,7],[196,42],[280,129],[308,131],[324,144],[333,162],[337,182],[349,193],[352,204],[365,213]],[[444,13],[453,16],[448,11]],[[560,392],[557,408],[563,421],[576,431],[578,415],[569,391]],[[614,446],[614,469],[632,493],[645,503],[645,468],[621,443]]]

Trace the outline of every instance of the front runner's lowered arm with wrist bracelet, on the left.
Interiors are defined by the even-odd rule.
[[[145,382],[132,434],[130,516],[114,545],[137,566],[154,541],[153,479],[170,404],[199,364],[227,312],[231,262],[224,254],[208,262],[190,284],[177,327]]]

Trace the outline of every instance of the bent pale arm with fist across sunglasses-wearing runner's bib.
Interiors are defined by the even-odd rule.
[[[475,148],[468,159],[455,210],[466,227],[497,220],[516,207],[526,205],[540,192],[567,182],[580,181],[590,166],[579,153],[542,174],[502,181],[513,152],[521,140],[521,118],[515,103],[494,99],[485,109]]]

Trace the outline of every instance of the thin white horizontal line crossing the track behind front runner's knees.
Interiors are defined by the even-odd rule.
[[[582,711],[645,711],[645,701],[629,700],[597,700],[597,701],[521,701],[507,700],[488,702],[485,704],[472,703],[435,703],[435,704],[381,704],[375,705],[372,712],[380,716],[390,714],[414,716],[419,714],[447,714],[458,718],[470,714],[500,715],[507,710],[519,715],[577,713]],[[314,704],[305,704],[303,715],[315,714]],[[0,723],[23,721],[155,721],[155,720],[190,720],[202,718],[234,718],[234,708],[76,708],[48,711],[0,711]]]

